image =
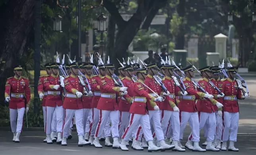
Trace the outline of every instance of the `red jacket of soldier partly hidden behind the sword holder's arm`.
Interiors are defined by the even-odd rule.
[[[144,81],[144,84],[147,85],[150,89],[152,89],[155,93],[157,93],[158,95],[161,94],[161,87],[157,84],[157,82],[155,81],[155,79],[147,74],[147,77]],[[153,97],[157,98],[157,96],[148,88],[146,89],[146,91]],[[157,106],[159,106],[159,102],[155,102],[157,104]],[[152,106],[150,106],[150,102],[149,100],[147,100],[147,108],[148,110],[154,110],[154,108]]]

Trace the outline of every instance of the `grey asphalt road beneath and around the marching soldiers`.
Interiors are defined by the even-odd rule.
[[[198,80],[198,78],[195,78]],[[249,95],[250,98],[246,100],[240,100],[240,120],[239,120],[239,135],[236,147],[239,148],[239,152],[229,152],[229,151],[219,151],[216,152],[206,152],[208,155],[213,154],[243,154],[243,155],[255,155],[256,154],[256,81],[255,77],[246,77],[245,80],[247,85],[249,86]],[[5,128],[6,129],[6,128]],[[185,140],[190,132],[190,129],[185,130],[184,141],[182,144],[185,144]],[[144,151],[134,151],[129,147],[129,151],[121,151],[120,149],[112,149],[108,147],[103,147],[101,149],[96,149],[92,146],[84,146],[78,147],[78,137],[76,136],[76,132],[72,132],[73,138],[72,140],[68,140],[68,146],[60,146],[57,144],[45,144],[43,143],[43,139],[45,138],[45,133],[43,132],[43,128],[41,130],[33,130],[33,129],[23,129],[23,133],[21,134],[21,143],[12,142],[12,132],[10,130],[4,130],[4,128],[0,128],[0,155],[47,155],[47,154],[61,154],[61,155],[81,155],[84,153],[88,153],[91,155],[119,155],[122,153],[123,155],[128,155],[130,153],[136,153],[140,155],[145,155],[147,153],[147,149]],[[201,139],[200,144],[204,142],[203,131],[201,131]],[[103,145],[103,143],[102,143]],[[131,144],[130,144],[131,145]],[[184,153],[181,152],[157,152],[161,154],[198,154],[192,151],[186,151]],[[154,153],[155,154],[155,153]]]

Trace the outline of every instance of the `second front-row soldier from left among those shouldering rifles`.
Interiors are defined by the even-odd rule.
[[[70,129],[70,123],[72,122],[73,116],[76,119],[76,129],[78,132],[78,146],[86,146],[91,143],[86,142],[83,139],[84,129],[83,129],[83,102],[81,97],[83,95],[83,86],[81,85],[78,78],[79,66],[78,62],[73,62],[70,64],[71,74],[65,77],[65,89],[66,98],[63,103],[63,108],[65,110],[65,119],[62,129],[62,146],[67,146],[68,131]]]

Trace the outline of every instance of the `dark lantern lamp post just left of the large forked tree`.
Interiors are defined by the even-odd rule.
[[[107,17],[103,13],[97,18],[97,30],[101,32],[100,54],[103,56],[103,32],[107,30]]]

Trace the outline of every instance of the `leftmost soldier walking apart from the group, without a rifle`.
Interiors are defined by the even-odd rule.
[[[28,112],[30,103],[29,80],[26,77],[21,76],[21,73],[22,66],[15,66],[15,75],[14,77],[9,77],[7,79],[4,91],[5,100],[6,102],[9,102],[10,123],[14,134],[12,141],[16,143],[19,143],[19,136],[22,132],[23,125],[23,115],[25,110],[26,113]]]

